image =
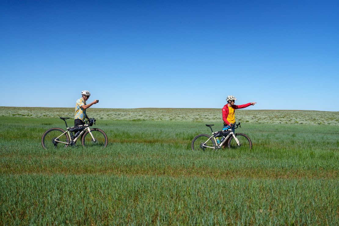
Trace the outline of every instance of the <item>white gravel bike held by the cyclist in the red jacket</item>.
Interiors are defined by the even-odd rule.
[[[192,150],[205,150],[206,148],[212,148],[218,150],[227,146],[228,148],[239,148],[243,150],[249,150],[252,148],[251,139],[243,133],[234,133],[234,130],[238,127],[241,128],[240,122],[238,124],[231,124],[231,128],[227,130],[221,130],[218,132],[213,132],[212,126],[208,125],[212,131],[212,136],[207,134],[200,134],[193,138],[191,147]],[[216,138],[221,137],[220,143],[217,142]]]

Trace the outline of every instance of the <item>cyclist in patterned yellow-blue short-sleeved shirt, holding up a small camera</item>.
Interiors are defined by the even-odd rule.
[[[91,93],[87,90],[81,91],[81,95],[82,97],[75,103],[74,126],[85,124],[85,118],[89,119],[86,115],[86,109],[99,102],[98,100],[94,100],[92,103],[86,104],[86,100],[91,96]]]

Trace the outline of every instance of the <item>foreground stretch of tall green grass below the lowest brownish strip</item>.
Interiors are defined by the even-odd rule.
[[[1,224],[338,223],[338,180],[6,175]]]

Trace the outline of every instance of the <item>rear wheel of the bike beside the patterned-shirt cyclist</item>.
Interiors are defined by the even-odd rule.
[[[61,132],[61,133],[60,133]],[[63,143],[53,143],[53,139],[59,137],[62,133],[64,133],[65,130],[60,129],[60,128],[51,128],[48,129],[46,132],[41,137],[41,145],[44,149],[50,149],[50,148],[58,148],[59,147],[67,147],[68,144],[63,144]],[[69,137],[68,134],[65,133],[59,140],[63,142],[69,143]]]

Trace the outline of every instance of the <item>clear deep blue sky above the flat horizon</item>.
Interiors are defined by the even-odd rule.
[[[1,1],[0,106],[339,111],[339,1]]]

